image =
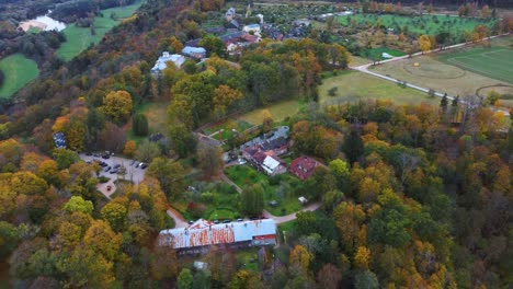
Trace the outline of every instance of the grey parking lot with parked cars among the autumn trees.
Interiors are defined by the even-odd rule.
[[[115,155],[111,155],[109,159],[103,159],[100,154],[94,154],[94,155],[87,155],[86,153],[80,153],[80,159],[82,159],[86,162],[93,162],[93,161],[102,161],[105,162],[107,165],[102,166],[102,170],[100,172],[100,175],[109,177],[109,182],[103,183],[103,184],[98,184],[98,189],[103,193],[107,198],[111,197],[111,195],[116,190],[116,185],[114,184],[114,181],[117,178],[124,178],[126,181],[130,181],[134,184],[139,184],[142,182],[145,178],[146,170],[147,169],[140,169],[136,167],[137,164],[140,162],[130,160],[130,159],[125,159],[125,158],[119,158]],[[111,173],[114,167],[116,166],[124,166],[126,169],[126,174],[124,176],[118,175],[117,173]],[[111,167],[109,171],[106,171],[106,167]],[[117,169],[119,170],[119,169]],[[111,187],[111,189],[107,189],[107,186]]]

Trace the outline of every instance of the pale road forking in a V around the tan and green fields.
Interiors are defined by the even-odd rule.
[[[497,36],[490,36],[490,37],[485,38],[483,41],[493,39],[493,38],[497,38],[497,37],[502,37],[502,36],[504,36],[504,35],[509,35],[509,34],[510,34],[510,33],[502,34],[502,35],[497,35]],[[474,43],[460,43],[460,44],[447,46],[447,47],[444,48],[444,50],[454,49],[454,48],[458,48],[458,47],[463,47],[463,46],[469,45],[469,44],[474,44]],[[421,55],[426,55],[426,54],[431,54],[431,53],[435,53],[435,51],[440,51],[440,49],[433,49],[433,50],[429,50],[429,51],[425,51],[425,53],[412,54],[411,57],[421,56]],[[403,60],[403,59],[407,59],[407,58],[410,58],[410,56],[404,55],[404,56],[400,56],[400,57],[394,57],[394,58],[390,58],[390,59],[386,59],[386,60],[379,61],[379,63],[387,63],[387,62],[391,62],[391,61],[400,61],[400,60]],[[367,73],[367,74],[369,74],[369,76],[374,76],[374,77],[377,77],[377,78],[380,78],[380,79],[384,79],[384,80],[388,80],[388,81],[395,82],[395,83],[403,83],[402,81],[397,80],[397,79],[395,79],[395,78],[390,78],[390,77],[387,77],[387,76],[384,76],[384,74],[376,73],[376,72],[374,72],[374,71],[369,71],[368,68],[369,68],[371,66],[373,66],[373,63],[367,63],[367,65],[357,66],[357,67],[350,67],[350,68],[353,69],[353,70],[361,71],[361,72],[363,72],[363,73]],[[414,90],[418,90],[418,91],[422,91],[422,92],[425,92],[425,93],[429,93],[429,91],[430,91],[429,89],[425,89],[425,88],[422,88],[422,86],[419,86],[419,85],[415,85],[415,84],[411,84],[411,83],[406,83],[406,85],[407,85],[408,88],[411,88],[411,89],[414,89]],[[445,93],[435,92],[435,95],[438,96],[438,97],[443,97],[443,96],[445,95]],[[448,100],[454,100],[454,96],[447,95],[447,99],[448,99]],[[463,102],[463,103],[464,103],[464,102]],[[510,115],[510,112],[508,112],[508,111],[505,111],[505,109],[493,108],[493,111],[502,112],[505,116],[509,116],[509,115]]]

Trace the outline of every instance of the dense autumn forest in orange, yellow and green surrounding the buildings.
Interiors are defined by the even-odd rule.
[[[148,0],[98,46],[48,68],[2,106],[0,258],[14,288],[512,286],[511,112],[504,119],[458,99],[320,106],[322,72],[347,68],[343,46],[263,39],[228,61],[220,39],[201,28],[213,2]],[[162,51],[181,51],[201,36],[208,60],[151,76]],[[57,45],[52,37],[48,45]],[[321,208],[298,213],[294,234],[266,247],[273,257],[258,270],[238,267],[236,252],[223,246],[195,256],[207,270],[191,269],[190,258],[157,245],[159,231],[174,227],[166,210],[190,182],[173,159],[201,162],[193,131],[205,123],[282,100],[305,103],[281,124],[290,127],[295,153],[327,163],[299,192]],[[170,104],[162,131],[169,143],[133,148],[123,128],[146,122],[137,105],[158,101]],[[57,131],[68,149],[54,147]],[[77,153],[92,150],[148,161],[145,181],[104,198],[101,167]]]

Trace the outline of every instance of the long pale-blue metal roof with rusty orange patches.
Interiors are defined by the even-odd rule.
[[[275,234],[276,224],[272,219],[219,224],[201,219],[189,228],[160,231],[159,243],[183,248],[252,241],[255,236]]]

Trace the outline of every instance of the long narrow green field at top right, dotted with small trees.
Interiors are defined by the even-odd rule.
[[[452,35],[460,35],[464,31],[472,31],[478,24],[492,27],[493,20],[422,15],[422,16],[402,16],[392,14],[355,14],[350,16],[340,16],[339,23],[343,26],[350,26],[351,21],[355,20],[357,25],[375,26],[377,21],[387,28],[394,28],[399,32],[407,27],[413,34],[436,34],[438,31],[449,31]]]

